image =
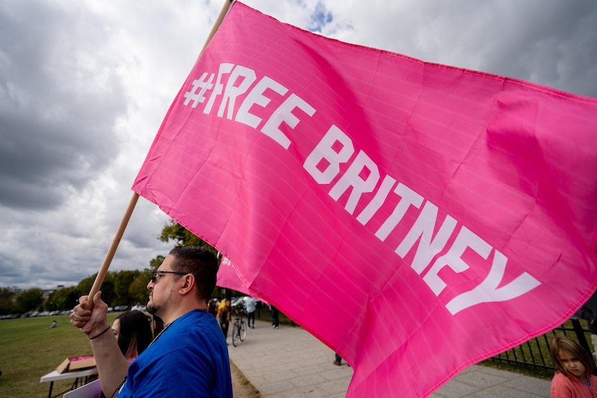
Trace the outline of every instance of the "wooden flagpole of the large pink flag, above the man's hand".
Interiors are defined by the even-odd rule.
[[[217,19],[215,19],[213,27],[211,28],[211,32],[207,36],[205,44],[203,45],[203,48],[201,49],[201,52],[199,53],[199,57],[201,57],[201,55],[205,51],[205,48],[207,47],[209,42],[211,42],[211,39],[213,38],[213,35],[215,35],[215,33],[217,32],[217,29],[220,28],[222,21],[224,21],[224,17],[226,17],[226,12],[228,12],[228,9],[232,5],[232,3],[233,3],[233,0],[224,0],[224,5],[222,6],[222,10],[220,10],[220,14],[217,15]],[[199,59],[199,57],[197,57],[197,60]],[[139,194],[137,192],[133,192],[133,196],[129,202],[129,206],[127,207],[127,210],[125,212],[125,215],[123,216],[123,219],[121,220],[120,226],[118,226],[118,230],[116,230],[116,235],[114,235],[114,239],[112,240],[112,244],[110,245],[108,252],[106,253],[106,257],[104,258],[104,262],[102,263],[102,266],[100,267],[100,271],[98,272],[98,275],[96,276],[96,280],[93,281],[93,286],[91,287],[91,290],[89,291],[88,297],[89,297],[89,302],[91,303],[91,306],[93,306],[93,296],[95,296],[96,293],[100,290],[100,287],[102,286],[102,283],[104,282],[104,279],[105,279],[106,274],[108,273],[108,269],[110,267],[110,263],[112,263],[112,259],[114,259],[114,254],[116,253],[118,244],[120,244],[121,239],[123,238],[125,229],[127,228],[127,224],[129,223],[129,220],[131,218],[131,215],[133,213],[133,210],[134,210],[138,200],[139,200]]]

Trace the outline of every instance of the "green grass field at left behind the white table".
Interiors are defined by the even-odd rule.
[[[108,314],[111,325],[117,314]],[[53,320],[58,327],[48,329]],[[0,397],[47,397],[50,383],[39,383],[44,374],[65,358],[91,354],[87,336],[69,320],[66,315],[0,320]],[[73,381],[55,381],[53,395]]]

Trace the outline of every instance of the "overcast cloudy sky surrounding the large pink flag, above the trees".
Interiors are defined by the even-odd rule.
[[[594,0],[245,0],[341,39],[597,97]],[[96,273],[223,0],[0,0],[0,287]],[[139,199],[111,270],[172,244]]]

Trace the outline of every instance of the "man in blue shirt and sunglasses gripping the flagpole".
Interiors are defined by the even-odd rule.
[[[133,363],[107,333],[107,305],[101,292],[87,296],[71,324],[87,334],[106,397],[232,397],[226,341],[207,301],[215,288],[217,260],[204,248],[173,248],[148,283],[148,312],[166,326]]]

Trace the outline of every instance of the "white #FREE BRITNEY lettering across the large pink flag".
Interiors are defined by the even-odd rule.
[[[224,75],[228,76],[225,84],[223,82]],[[301,121],[293,113],[295,109],[300,109],[302,112],[299,113],[307,116],[313,116],[316,110],[296,94],[290,93],[281,105],[271,111],[265,123],[262,123],[262,118],[255,113],[251,113],[251,109],[254,109],[255,106],[267,109],[271,98],[265,96],[266,90],[272,90],[280,97],[284,97],[288,93],[286,87],[267,76],[263,76],[257,81],[257,75],[252,69],[222,63],[217,75],[205,72],[201,78],[193,81],[193,88],[184,94],[184,105],[196,108],[197,105],[204,104],[203,113],[211,114],[216,99],[221,97],[220,107],[217,110],[218,117],[225,116],[229,120],[235,120],[254,129],[262,125],[259,130],[262,134],[269,136],[284,149],[288,149],[291,140],[280,130],[280,125],[285,123],[291,129],[294,129]],[[244,96],[245,94],[246,96]],[[239,101],[240,105],[237,106],[236,102],[240,96],[244,96],[244,99],[242,102]],[[374,192],[381,179],[379,168],[377,168],[371,157],[362,150],[359,150],[353,161],[348,164],[354,154],[355,147],[350,137],[337,126],[332,125],[303,163],[303,168],[322,186],[330,184],[339,176],[341,164],[346,163],[348,165],[344,174],[330,188],[328,195],[337,201],[345,192],[350,190],[348,201],[344,206],[344,209],[350,215],[354,215],[357,203],[362,199],[362,195]],[[321,170],[321,164],[326,165],[323,170]],[[419,242],[411,263],[411,269],[418,275],[422,275],[422,280],[436,296],[439,296],[447,287],[447,284],[439,275],[444,267],[449,267],[455,273],[461,273],[470,268],[469,264],[462,259],[467,248],[472,249],[484,260],[488,260],[490,255],[493,254],[491,268],[485,280],[470,291],[465,291],[447,302],[445,307],[452,315],[481,302],[511,300],[540,285],[540,282],[533,276],[523,272],[508,284],[499,287],[504,278],[508,258],[465,226],[461,226],[458,230],[447,253],[438,257],[431,264],[431,260],[445,248],[449,238],[456,230],[458,222],[447,215],[436,236],[433,237],[438,215],[438,207],[434,203],[426,200],[403,183],[397,183],[389,175],[385,175],[379,185],[377,191],[374,192],[373,199],[356,215],[357,221],[362,225],[366,225],[386,202],[391,192],[398,195],[400,199],[393,212],[375,232],[375,237],[384,242],[392,230],[400,224],[407,210],[420,209],[413,226],[402,239],[402,242],[398,244],[398,247],[395,248],[395,253],[404,258],[416,242]]]

